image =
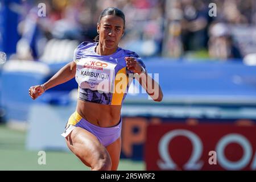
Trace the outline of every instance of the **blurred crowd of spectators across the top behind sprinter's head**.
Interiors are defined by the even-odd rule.
[[[38,3],[46,3],[46,17],[38,16]],[[216,3],[216,17],[208,15],[209,3]],[[126,15],[125,36],[119,46],[141,56],[181,57],[188,51],[205,50],[210,57],[228,59],[253,53],[253,48],[246,51],[243,46],[241,51],[234,44],[232,35],[235,40],[239,35],[237,31],[232,34],[235,30],[226,30],[229,34],[223,35],[218,35],[220,30],[208,32],[213,22],[252,28],[256,22],[254,0],[23,0],[20,8],[15,8],[20,14],[15,58],[38,60],[51,39],[93,41],[97,17],[109,6]],[[239,39],[239,46],[248,44],[242,41]]]

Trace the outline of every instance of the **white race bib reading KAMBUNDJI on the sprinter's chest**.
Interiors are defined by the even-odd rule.
[[[116,65],[91,57],[82,58],[76,65],[76,81],[82,89],[112,92]]]

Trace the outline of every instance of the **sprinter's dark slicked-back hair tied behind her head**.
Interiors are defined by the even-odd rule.
[[[101,12],[100,18],[98,18],[97,23],[101,22],[102,17],[108,16],[108,15],[115,15],[115,16],[119,16],[120,18],[122,18],[123,19],[123,24],[124,24],[123,27],[125,27],[125,14],[123,14],[123,12],[121,10],[119,10],[118,8],[116,8],[116,7],[108,7],[105,10],[103,10]],[[98,42],[99,38],[100,38],[100,35],[97,35],[94,38],[95,42]]]

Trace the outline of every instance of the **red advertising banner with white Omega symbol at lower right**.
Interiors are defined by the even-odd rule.
[[[150,124],[147,170],[255,170],[256,126]]]

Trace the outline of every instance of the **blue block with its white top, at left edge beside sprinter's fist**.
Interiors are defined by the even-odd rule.
[[[48,74],[48,66],[31,61],[7,61],[1,69],[1,106],[6,110],[7,121],[27,121],[33,101],[28,89],[42,84]]]

